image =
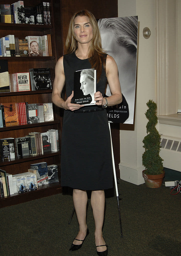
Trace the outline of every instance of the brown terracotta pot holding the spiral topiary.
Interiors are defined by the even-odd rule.
[[[163,178],[165,177],[165,171],[162,174],[158,175],[149,175],[144,173],[145,170],[142,171],[142,176],[144,178],[144,182],[149,188],[159,188],[162,185]]]

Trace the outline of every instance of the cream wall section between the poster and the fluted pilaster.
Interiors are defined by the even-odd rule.
[[[118,16],[138,15],[137,85],[134,130],[120,125],[120,177],[134,184],[144,183],[142,177],[142,140],[146,135],[149,99],[156,101],[156,32],[155,0],[118,0]],[[144,27],[151,30],[149,39],[143,37]]]

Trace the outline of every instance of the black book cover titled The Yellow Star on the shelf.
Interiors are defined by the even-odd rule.
[[[35,90],[52,89],[50,68],[33,68],[32,76]]]

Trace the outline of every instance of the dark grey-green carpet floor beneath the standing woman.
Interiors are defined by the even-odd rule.
[[[178,256],[181,252],[181,193],[118,180],[123,238],[115,190],[106,193],[103,236],[109,256]],[[173,193],[176,193],[176,191]],[[58,194],[0,209],[1,256],[95,256],[94,220],[88,193],[90,234],[80,250],[69,252],[78,232],[72,196]]]

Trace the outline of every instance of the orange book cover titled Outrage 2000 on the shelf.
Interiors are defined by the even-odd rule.
[[[4,115],[6,126],[14,126],[18,125],[18,113],[17,113],[17,105],[15,102],[11,103],[1,103],[4,105]]]

